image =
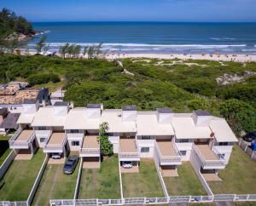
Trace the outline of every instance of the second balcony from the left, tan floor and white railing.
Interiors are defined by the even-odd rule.
[[[67,135],[64,132],[53,132],[49,139],[45,140],[44,152],[64,152]]]

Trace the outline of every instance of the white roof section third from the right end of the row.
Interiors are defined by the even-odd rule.
[[[159,123],[156,112],[137,113],[137,135],[174,135],[171,123]]]

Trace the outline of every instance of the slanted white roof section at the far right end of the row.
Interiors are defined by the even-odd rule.
[[[218,142],[236,142],[236,135],[230,129],[230,125],[224,118],[213,117],[210,129]]]

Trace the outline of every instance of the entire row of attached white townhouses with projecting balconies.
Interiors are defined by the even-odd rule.
[[[224,118],[202,110],[174,113],[170,108],[160,108],[137,112],[136,106],[104,110],[101,104],[71,108],[66,102],[39,107],[32,101],[23,106],[20,129],[10,147],[30,148],[32,152],[39,146],[49,157],[55,153],[66,157],[68,152],[77,151],[85,168],[100,167],[98,136],[102,123],[108,123],[108,140],[124,171],[132,168],[139,172],[140,159],[148,157],[157,160],[164,176],[177,175],[183,161],[193,161],[201,173],[217,174],[229,162],[237,141]],[[26,144],[18,144],[21,139]]]

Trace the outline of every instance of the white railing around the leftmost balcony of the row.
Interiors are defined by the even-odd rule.
[[[17,147],[17,146],[20,146],[20,147],[27,147],[29,146],[29,143],[31,143],[32,139],[35,137],[35,132],[32,131],[31,134],[29,134],[28,138],[26,140],[16,140],[19,135],[21,134],[22,132],[22,128],[19,128],[15,134],[10,138],[9,140],[9,147],[12,148],[12,147]]]

